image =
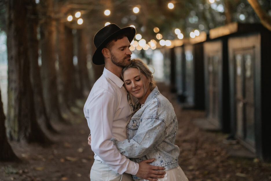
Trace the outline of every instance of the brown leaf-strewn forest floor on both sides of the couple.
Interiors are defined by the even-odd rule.
[[[194,124],[204,118],[204,111],[185,110],[176,102],[176,95],[167,86],[158,86],[173,104],[178,119],[175,144],[180,148],[179,165],[190,181],[268,181],[271,163],[258,158],[232,156],[230,152],[243,149],[241,145],[225,144],[228,136],[208,132]],[[0,162],[0,181],[89,181],[94,153],[87,145],[89,128],[81,110],[74,123],[55,123],[58,134],[50,134],[50,146],[26,142],[10,142],[20,162]]]

